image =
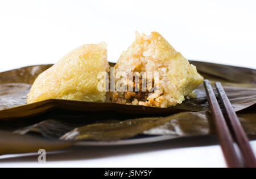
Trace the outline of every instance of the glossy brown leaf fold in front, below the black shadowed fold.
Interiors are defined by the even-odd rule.
[[[242,113],[238,117],[248,135],[256,135],[256,113]],[[104,120],[82,126],[59,119],[48,119],[32,126],[20,128],[15,134],[39,133],[46,138],[60,140],[113,141],[138,135],[171,135],[173,138],[215,134],[208,111],[183,112],[170,116]]]

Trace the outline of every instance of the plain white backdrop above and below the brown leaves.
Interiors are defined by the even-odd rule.
[[[135,31],[160,32],[187,59],[256,68],[255,19],[254,0],[0,0],[0,72],[53,64],[82,44],[100,41],[108,43],[108,60],[114,62],[133,42]],[[118,155],[73,148],[81,159],[52,154],[54,160],[44,166],[225,166],[218,145],[192,147],[193,142],[176,141],[184,145],[177,149],[171,142],[128,147],[134,151],[128,154],[122,147],[108,148]],[[84,157],[90,152],[93,157]],[[34,166],[36,157],[3,161],[8,162],[0,160],[0,166]]]

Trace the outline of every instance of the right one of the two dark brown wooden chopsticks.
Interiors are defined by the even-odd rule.
[[[216,82],[216,89],[218,91],[218,95],[220,96],[221,103],[224,106],[230,127],[232,128],[234,139],[236,140],[243,159],[245,160],[245,165],[246,167],[255,168],[256,159],[253,150],[251,149],[249,140],[220,82]]]

